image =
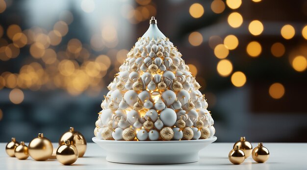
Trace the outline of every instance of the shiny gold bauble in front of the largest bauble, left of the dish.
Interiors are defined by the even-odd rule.
[[[77,147],[72,145],[69,140],[66,140],[65,144],[57,148],[56,159],[64,165],[71,165],[75,163],[78,159]]]

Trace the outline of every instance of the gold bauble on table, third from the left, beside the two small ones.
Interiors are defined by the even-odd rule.
[[[29,144],[29,155],[36,161],[46,161],[51,157],[52,151],[52,143],[43,133],[39,133]]]

